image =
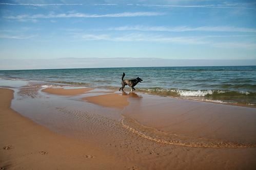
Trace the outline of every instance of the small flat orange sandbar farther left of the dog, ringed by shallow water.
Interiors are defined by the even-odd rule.
[[[78,95],[78,94],[83,94],[90,90],[93,90],[93,88],[75,88],[75,89],[45,88],[42,91],[51,93],[51,94],[57,94],[57,95]]]

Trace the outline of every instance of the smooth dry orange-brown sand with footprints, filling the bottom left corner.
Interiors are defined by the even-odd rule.
[[[127,169],[91,143],[55,134],[12,109],[13,90],[0,89],[1,169]]]

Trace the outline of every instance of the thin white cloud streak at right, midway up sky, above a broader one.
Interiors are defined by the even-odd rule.
[[[115,27],[109,28],[108,30],[114,31],[166,31],[166,32],[187,32],[187,31],[205,31],[205,32],[247,32],[247,33],[256,33],[256,29],[252,28],[238,28],[238,27],[147,27],[147,26],[124,26],[124,27]]]

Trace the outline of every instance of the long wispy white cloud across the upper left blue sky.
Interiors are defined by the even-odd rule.
[[[62,14],[35,14],[4,16],[6,19],[44,19],[44,18],[99,18],[99,17],[136,17],[136,16],[158,16],[164,13],[159,12],[123,12],[112,14],[85,14],[85,13],[62,13]]]

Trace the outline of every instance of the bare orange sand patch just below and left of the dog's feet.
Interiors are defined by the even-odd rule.
[[[129,95],[120,95],[120,94],[104,94],[97,96],[90,96],[87,98],[83,98],[84,101],[93,103],[96,105],[111,107],[117,109],[124,109],[129,105],[128,99]]]

